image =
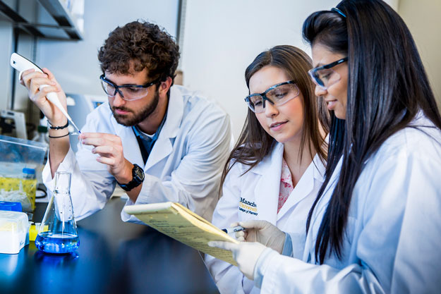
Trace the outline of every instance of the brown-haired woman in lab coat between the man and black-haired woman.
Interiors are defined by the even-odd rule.
[[[212,219],[220,228],[239,222],[247,240],[281,253],[285,234],[274,239],[265,231],[277,226],[304,243],[308,212],[325,175],[329,111],[314,95],[311,68],[310,57],[288,45],[262,52],[246,68],[248,116],[224,166]],[[268,222],[255,230],[248,229],[250,220]],[[207,265],[221,293],[258,291],[237,267],[210,256]]]

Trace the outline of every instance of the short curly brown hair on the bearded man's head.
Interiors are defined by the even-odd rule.
[[[98,60],[102,72],[128,74],[147,68],[147,78],[173,85],[179,62],[179,46],[159,26],[145,21],[133,21],[116,27],[99,49]]]

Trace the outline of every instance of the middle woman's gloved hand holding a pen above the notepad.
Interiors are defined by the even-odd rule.
[[[246,231],[236,232],[239,241],[258,242],[282,254],[285,233],[268,221],[240,221],[231,227],[242,226]]]

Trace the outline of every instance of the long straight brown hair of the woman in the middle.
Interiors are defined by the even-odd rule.
[[[248,89],[250,78],[264,66],[282,68],[286,75],[296,82],[298,90],[303,94],[304,117],[299,154],[302,154],[306,145],[310,154],[317,152],[324,162],[327,158],[327,145],[324,144],[325,138],[320,135],[320,124],[327,133],[329,130],[329,111],[326,109],[325,102],[315,97],[313,82],[308,77],[308,70],[312,67],[310,57],[301,49],[289,45],[276,46],[263,51],[246,68],[245,80]],[[243,105],[245,106],[245,103]],[[274,142],[274,138],[262,128],[253,111],[248,109],[241,135],[224,166],[219,196],[222,194],[222,184],[226,174],[236,162],[249,166],[249,169],[246,170],[248,172],[271,152]],[[311,145],[315,152],[311,150]],[[232,164],[230,164],[231,161]]]

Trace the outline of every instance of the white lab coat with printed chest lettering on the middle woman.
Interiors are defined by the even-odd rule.
[[[277,143],[267,157],[243,176],[241,174],[248,166],[234,164],[226,176],[223,195],[213,214],[212,223],[215,226],[228,228],[234,221],[262,219],[282,231],[289,231],[293,242],[304,244],[306,218],[323,183],[325,166],[315,155],[277,214],[283,151],[284,145]],[[205,260],[220,293],[260,292],[259,288],[254,287],[253,281],[243,276],[237,267],[210,255]]]

